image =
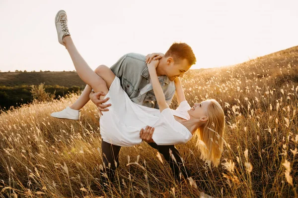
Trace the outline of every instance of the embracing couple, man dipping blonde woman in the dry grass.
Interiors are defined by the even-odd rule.
[[[129,53],[111,68],[100,65],[93,71],[74,46],[64,10],[57,13],[55,23],[60,44],[68,50],[77,74],[87,86],[74,104],[51,116],[78,119],[79,109],[90,95],[101,114],[101,148],[105,167],[110,163],[110,169],[106,169],[109,179],[114,178],[119,165],[120,148],[138,145],[142,140],[164,156],[178,180],[180,173],[184,178],[191,173],[174,145],[185,144],[194,135],[198,136],[201,158],[219,165],[224,111],[214,99],[195,103],[193,107],[185,99],[179,77],[196,62],[187,44],[174,43],[163,56],[157,54],[155,58],[156,54],[146,58]],[[96,93],[91,93],[92,89]],[[179,104],[175,110],[168,106],[174,93]]]

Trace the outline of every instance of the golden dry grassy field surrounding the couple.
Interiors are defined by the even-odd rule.
[[[89,102],[80,121],[50,117],[77,98],[34,103],[0,114],[2,197],[297,197],[298,47],[235,66],[190,71],[190,105],[217,99],[226,119],[221,164],[200,159],[196,137],[177,145],[194,176],[175,181],[146,143],[122,148],[117,183],[100,185],[99,116]],[[177,106],[173,99],[172,108]]]

